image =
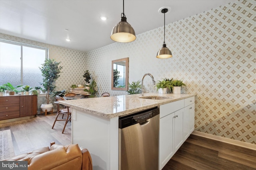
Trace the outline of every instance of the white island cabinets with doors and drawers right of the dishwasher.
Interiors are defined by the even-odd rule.
[[[194,131],[194,97],[160,105],[159,169]]]

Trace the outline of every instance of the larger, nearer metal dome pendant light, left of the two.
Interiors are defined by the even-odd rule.
[[[116,42],[128,43],[136,39],[135,31],[132,26],[126,22],[124,15],[124,0],[123,0],[123,13],[121,14],[121,21],[112,29],[110,38]]]

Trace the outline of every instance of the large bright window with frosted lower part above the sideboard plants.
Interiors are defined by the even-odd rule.
[[[0,85],[40,86],[39,67],[48,58],[48,49],[0,39]]]

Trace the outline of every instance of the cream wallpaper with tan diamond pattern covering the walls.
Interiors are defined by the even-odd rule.
[[[129,82],[151,73],[155,80],[182,79],[182,93],[197,94],[195,130],[256,145],[256,0],[238,0],[166,25],[170,59],[157,59],[164,27],[136,35],[131,43],[113,43],[88,53],[0,34],[0,38],[49,48],[64,66],[57,90],[84,83],[88,69],[98,96],[111,90],[111,61],[129,57]],[[172,17],[166,15],[166,17]],[[156,92],[151,78],[146,90]]]

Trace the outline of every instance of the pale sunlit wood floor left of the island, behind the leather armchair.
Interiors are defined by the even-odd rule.
[[[48,113],[46,116],[38,114],[32,119],[2,123],[0,131],[11,130],[15,155],[47,147],[52,141],[62,145],[71,144],[71,123],[67,123],[62,134],[65,121],[56,121],[52,129],[55,117],[56,113]]]

